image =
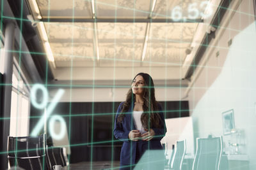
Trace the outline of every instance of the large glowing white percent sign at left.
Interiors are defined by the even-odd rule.
[[[42,102],[38,103],[36,101],[36,92],[37,90],[42,90]],[[54,110],[54,108],[56,107],[56,105],[58,104],[58,101],[60,101],[61,97],[64,94],[64,90],[63,89],[59,89],[57,94],[54,96],[54,98],[51,101],[51,104],[49,104],[49,106],[46,108],[46,112],[45,112],[45,117],[41,117],[39,122],[36,124],[35,128],[33,129],[33,131],[31,132],[31,136],[37,136],[38,133],[40,132],[40,130],[42,129],[42,127],[44,127],[44,120],[47,119],[52,111]],[[48,103],[48,92],[47,89],[44,87],[44,85],[41,84],[35,84],[33,85],[32,89],[31,89],[31,103],[33,104],[33,106],[35,108],[38,109],[44,109],[47,106]],[[61,124],[61,130],[59,134],[56,134],[54,132],[54,122],[56,121],[60,121]],[[66,129],[66,124],[65,124],[65,120],[60,117],[60,115],[54,115],[51,117],[50,121],[49,121],[49,129],[50,129],[50,133],[52,138],[60,140],[64,137],[65,135],[65,129]]]

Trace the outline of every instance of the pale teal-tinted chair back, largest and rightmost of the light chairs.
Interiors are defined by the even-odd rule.
[[[197,138],[193,170],[219,170],[222,138]]]

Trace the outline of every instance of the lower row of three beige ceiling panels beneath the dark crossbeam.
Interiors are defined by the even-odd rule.
[[[97,67],[182,66],[197,23],[152,23],[141,62],[147,23],[97,23]],[[56,67],[92,67],[93,23],[45,22]],[[73,32],[73,33],[72,33]]]

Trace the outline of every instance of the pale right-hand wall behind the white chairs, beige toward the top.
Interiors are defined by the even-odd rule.
[[[222,113],[234,109],[236,128],[245,132],[246,145],[242,152],[249,157],[250,169],[256,169],[256,133],[253,131],[256,122],[256,24],[253,2],[243,0],[234,10],[228,25],[221,24],[224,32],[216,44],[211,44],[214,49],[204,56],[208,61],[189,92],[189,108],[194,135],[200,138],[207,138],[209,134],[223,136]],[[228,47],[230,39],[232,45]],[[220,52],[218,57],[216,52]],[[227,147],[230,136],[223,136],[223,139]]]

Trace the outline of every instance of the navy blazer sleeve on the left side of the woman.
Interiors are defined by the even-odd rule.
[[[119,139],[120,141],[129,141],[129,131],[125,131],[122,123],[117,122],[117,117],[118,117],[118,115],[120,115],[120,112],[122,110],[122,104],[123,103],[121,103],[118,106],[118,109],[116,111],[115,125],[114,125],[113,133],[114,133],[114,136],[116,139]]]

